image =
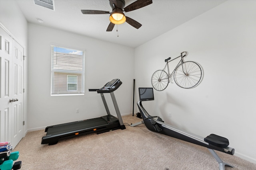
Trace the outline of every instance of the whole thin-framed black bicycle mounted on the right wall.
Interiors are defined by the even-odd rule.
[[[164,69],[156,70],[151,78],[151,83],[154,89],[158,91],[164,90],[169,82],[172,82],[174,79],[175,83],[181,88],[192,88],[195,87],[202,78],[202,69],[200,66],[194,61],[183,61],[183,57],[187,56],[188,53],[186,51],[182,52],[179,57],[181,57],[180,62],[174,68],[172,73],[170,73],[169,62],[178,59],[165,59],[166,62]],[[170,60],[170,61],[169,61]],[[167,67],[168,74],[165,71]]]

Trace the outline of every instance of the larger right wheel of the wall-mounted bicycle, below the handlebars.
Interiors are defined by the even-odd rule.
[[[186,61],[180,64],[174,72],[175,83],[182,88],[196,86],[202,78],[200,66],[193,61]]]

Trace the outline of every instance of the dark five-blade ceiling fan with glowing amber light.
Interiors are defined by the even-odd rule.
[[[109,0],[109,4],[112,8],[112,12],[100,11],[100,10],[81,10],[81,12],[83,14],[110,14],[110,17],[109,17],[110,24],[108,25],[108,28],[106,31],[112,31],[115,24],[122,24],[125,21],[130,25],[132,25],[133,27],[139,29],[142,25],[137,21],[133,20],[132,18],[125,16],[123,12],[130,12],[133,10],[137,10],[139,8],[150,5],[152,3],[153,3],[152,0],[137,0],[124,8],[125,6],[124,0]]]

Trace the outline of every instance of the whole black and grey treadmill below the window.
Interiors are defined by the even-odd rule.
[[[55,145],[60,140],[88,133],[96,132],[97,134],[100,134],[116,129],[126,129],[114,96],[114,91],[118,89],[121,84],[122,82],[119,79],[113,79],[100,89],[89,89],[90,92],[97,92],[100,94],[107,115],[93,119],[48,126],[45,128],[45,132],[47,133],[46,136],[42,137],[41,144]],[[104,93],[110,93],[118,118],[110,114]]]

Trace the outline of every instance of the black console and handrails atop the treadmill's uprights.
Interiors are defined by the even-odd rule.
[[[111,93],[114,92],[118,87],[122,84],[122,82],[116,78],[105,84],[100,89],[89,89],[89,91],[97,91],[97,93]]]

